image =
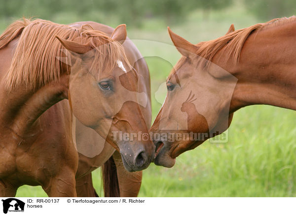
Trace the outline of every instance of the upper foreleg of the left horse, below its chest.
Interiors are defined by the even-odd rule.
[[[75,183],[75,171],[64,167],[42,187],[49,197],[76,197]]]

